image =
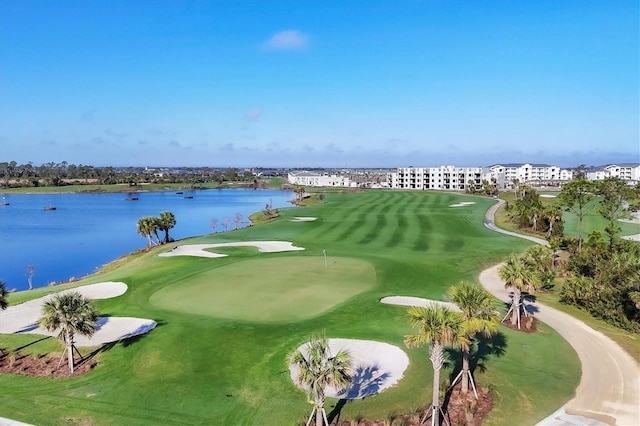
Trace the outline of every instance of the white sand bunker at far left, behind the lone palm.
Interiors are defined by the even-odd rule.
[[[124,294],[127,285],[122,282],[103,282],[64,290],[55,294],[78,292],[89,299],[109,299]],[[38,326],[42,317],[42,305],[54,294],[9,306],[0,312],[0,333],[28,333],[55,336]],[[76,346],[96,346],[144,334],[156,326],[156,322],[144,318],[99,317],[95,334],[90,338],[76,336]]]

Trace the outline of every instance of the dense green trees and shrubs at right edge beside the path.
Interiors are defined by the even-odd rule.
[[[584,212],[594,197],[596,210],[607,221],[605,236],[592,232],[583,242]],[[640,245],[618,238],[619,220],[638,211],[640,187],[615,177],[601,182],[577,179],[565,185],[559,200],[578,217],[579,234],[578,249],[569,260],[572,277],[563,285],[561,301],[615,326],[640,331]]]

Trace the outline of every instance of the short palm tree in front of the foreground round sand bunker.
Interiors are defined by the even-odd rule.
[[[302,350],[288,357],[290,365],[298,368],[296,383],[308,389],[309,399],[313,400],[313,410],[307,421],[316,415],[316,426],[329,424],[324,410],[324,392],[327,386],[338,390],[351,383],[351,355],[346,350],[331,354],[329,343],[324,335],[312,336]]]

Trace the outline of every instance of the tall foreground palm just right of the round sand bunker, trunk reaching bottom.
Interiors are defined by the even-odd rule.
[[[405,336],[407,347],[431,345],[431,364],[433,365],[433,397],[431,399],[431,425],[440,424],[440,369],[444,364],[444,347],[459,348],[468,344],[463,329],[462,315],[444,306],[432,308],[411,307],[408,311],[409,321],[418,334]]]

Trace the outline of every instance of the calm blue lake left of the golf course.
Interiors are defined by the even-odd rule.
[[[135,193],[137,201],[126,201],[128,194],[0,194],[8,206],[0,206],[0,280],[8,289],[24,290],[27,265],[35,267],[33,286],[66,281],[95,272],[102,265],[147,245],[137,232],[143,216],[159,216],[170,211],[176,226],[169,235],[178,240],[212,232],[211,219],[218,220],[216,231],[229,229],[241,213],[248,224],[251,213],[273,207],[289,207],[293,193],[275,190],[202,190]],[[186,199],[185,196],[193,196]],[[45,206],[55,211],[45,211]],[[164,233],[160,233],[164,235]]]

